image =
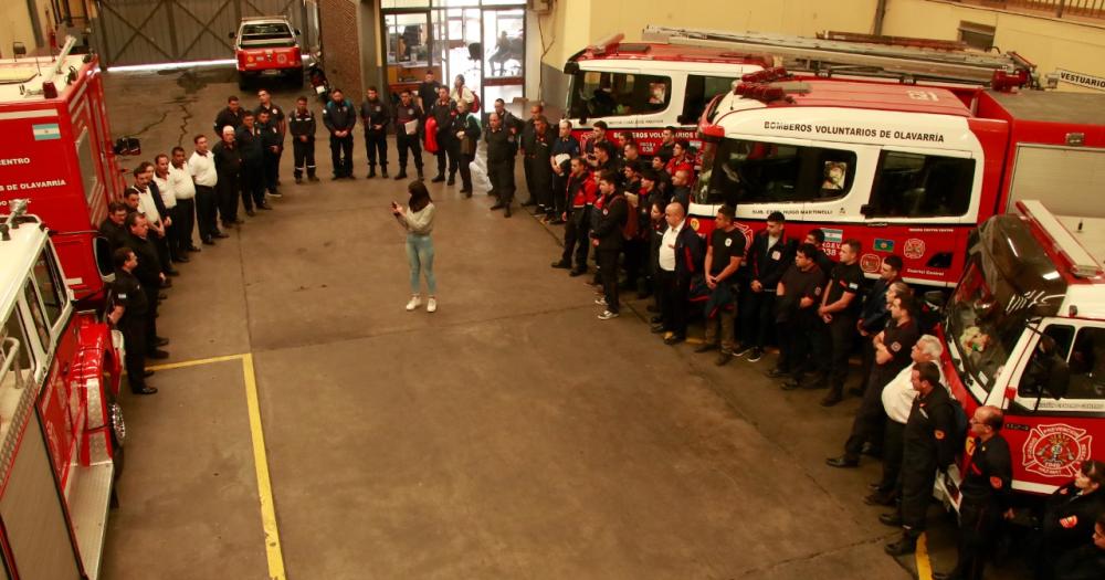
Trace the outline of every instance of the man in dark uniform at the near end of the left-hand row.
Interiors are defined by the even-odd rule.
[[[135,394],[154,394],[157,389],[146,384],[146,325],[149,302],[138,278],[133,274],[138,257],[129,247],[112,254],[115,280],[108,286],[107,319],[123,333],[126,348],[127,382]]]

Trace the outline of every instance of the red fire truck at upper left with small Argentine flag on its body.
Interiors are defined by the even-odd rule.
[[[94,54],[0,60],[0,212],[14,199],[54,233],[53,243],[80,299],[102,297],[113,268],[96,226],[125,189],[118,156],[136,139],[112,143],[103,76]]]

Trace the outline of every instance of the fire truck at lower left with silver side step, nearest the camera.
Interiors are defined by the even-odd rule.
[[[43,222],[0,218],[0,579],[99,576],[122,339],[74,294]]]

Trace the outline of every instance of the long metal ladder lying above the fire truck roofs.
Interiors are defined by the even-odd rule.
[[[777,66],[785,66],[788,71],[809,71],[819,76],[878,76],[911,84],[925,80],[981,86],[1004,81],[1012,85],[1039,86],[1035,65],[1015,52],[997,54],[947,50],[949,43],[934,41],[909,43],[894,39],[897,42],[856,42],[656,25],[646,27],[642,39],[769,56]]]

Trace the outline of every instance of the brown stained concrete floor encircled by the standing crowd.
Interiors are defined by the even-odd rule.
[[[190,150],[233,82],[109,75],[114,133],[146,158]],[[770,356],[718,369],[665,347],[643,303],[597,320],[592,289],[548,267],[558,230],[456,187],[431,187],[440,310],[404,312],[388,203],[406,183],[365,180],[362,162],[330,182],[325,138],[318,165],[297,187],[286,155],[284,199],[180,266],[160,318],[170,362],[254,356],[287,577],[915,574],[861,502],[877,466],[823,464],[857,400],[781,392]],[[150,382],[161,392],[125,400],[106,578],[267,577],[241,362]],[[940,534],[938,570],[954,563]]]

